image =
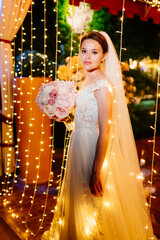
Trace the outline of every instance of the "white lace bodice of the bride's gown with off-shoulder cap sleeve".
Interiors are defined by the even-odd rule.
[[[79,92],[76,100],[75,129],[98,128],[98,107],[94,91],[104,87],[111,87],[106,79],[87,85]]]

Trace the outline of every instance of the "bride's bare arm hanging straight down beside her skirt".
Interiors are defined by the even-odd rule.
[[[91,193],[95,196],[102,196],[101,169],[106,156],[109,130],[112,118],[112,93],[108,88],[101,88],[95,91],[98,105],[99,136],[96,145],[95,159],[90,179]]]

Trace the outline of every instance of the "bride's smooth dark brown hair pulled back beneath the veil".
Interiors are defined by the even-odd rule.
[[[80,45],[81,47],[82,47],[82,43],[87,39],[92,39],[92,40],[97,41],[101,45],[101,47],[103,49],[103,53],[108,52],[108,43],[107,43],[105,37],[100,32],[91,31],[88,34],[86,34],[81,40],[81,45]]]

